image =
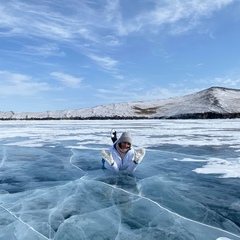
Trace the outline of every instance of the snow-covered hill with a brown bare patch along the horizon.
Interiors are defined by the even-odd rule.
[[[240,90],[211,87],[183,97],[46,112],[0,112],[0,119],[135,119],[240,117]]]

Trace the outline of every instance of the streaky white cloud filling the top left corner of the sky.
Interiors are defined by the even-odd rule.
[[[79,35],[88,38],[89,31],[84,30],[84,23],[81,24],[76,15],[64,15],[54,7],[58,6],[44,5],[44,2],[33,5],[16,0],[0,3],[0,25],[11,29],[2,34],[58,41],[71,41]]]

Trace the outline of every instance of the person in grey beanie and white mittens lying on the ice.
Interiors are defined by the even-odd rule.
[[[128,173],[133,173],[138,164],[145,156],[146,150],[141,148],[135,151],[132,147],[132,137],[129,132],[124,132],[119,139],[117,139],[116,131],[112,131],[111,139],[113,146],[107,153],[102,150],[103,169],[109,169],[113,172],[125,170]]]

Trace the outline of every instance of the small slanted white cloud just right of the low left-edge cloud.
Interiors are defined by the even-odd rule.
[[[51,76],[53,76],[56,80],[62,82],[65,86],[70,88],[79,88],[83,80],[82,78],[76,78],[62,72],[52,72]]]

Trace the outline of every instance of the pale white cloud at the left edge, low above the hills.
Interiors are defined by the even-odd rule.
[[[0,79],[1,95],[27,96],[50,90],[47,83],[35,81],[32,77],[24,74],[0,71]]]

